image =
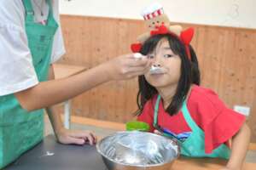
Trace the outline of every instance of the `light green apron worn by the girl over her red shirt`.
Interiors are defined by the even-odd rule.
[[[154,127],[158,126],[159,105],[160,95],[158,95],[154,106]],[[230,149],[225,144],[221,144],[218,148],[212,150],[212,154],[205,153],[205,133],[201,130],[200,127],[197,126],[197,124],[190,116],[186,101],[183,102],[182,113],[185,118],[185,121],[188,123],[189,127],[192,130],[192,133],[190,134],[188,139],[186,139],[183,142],[177,140],[181,148],[181,154],[183,156],[222,157],[225,159],[229,159]],[[168,137],[169,134],[164,133],[164,135]],[[172,136],[169,137],[173,138]]]

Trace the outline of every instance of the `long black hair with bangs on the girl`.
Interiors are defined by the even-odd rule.
[[[186,99],[187,94],[189,93],[190,85],[192,83],[200,85],[200,71],[194,49],[189,46],[191,54],[190,60],[186,54],[183,42],[180,42],[177,37],[171,34],[155,35],[153,37],[149,37],[148,40],[144,42],[140,53],[144,55],[152,53],[158,42],[160,42],[160,40],[163,38],[167,39],[172,52],[177,54],[181,59],[181,74],[177,83],[177,89],[172,98],[171,104],[166,109],[169,115],[172,116],[180,110],[183,104],[183,100]],[[140,115],[146,102],[149,99],[152,99],[155,94],[158,94],[156,88],[147,82],[144,75],[138,77],[138,83],[139,91],[137,94],[137,105],[139,109],[136,112],[136,115]]]

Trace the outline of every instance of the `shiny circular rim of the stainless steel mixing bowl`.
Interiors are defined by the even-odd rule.
[[[151,165],[150,164],[149,165],[131,165],[131,164],[128,164],[128,163],[114,161],[112,158],[109,158],[104,153],[102,153],[102,150],[100,150],[100,144],[102,144],[103,140],[108,139],[110,137],[113,137],[113,135],[118,134],[118,133],[134,133],[134,132],[149,133],[149,132],[141,132],[141,131],[136,131],[136,130],[135,131],[119,131],[119,132],[116,132],[116,133],[112,133],[112,134],[102,138],[99,142],[97,142],[97,144],[96,144],[97,152],[99,154],[101,154],[101,156],[105,157],[106,159],[108,159],[110,161],[113,161],[113,162],[118,163],[120,165],[125,165],[125,166],[130,166],[130,167],[158,167],[158,166],[161,166],[161,165],[165,165],[167,163],[171,163],[172,161],[177,160],[177,158],[180,156],[180,146],[179,146],[179,144],[177,144],[177,141],[175,141],[173,139],[166,138],[165,136],[162,136],[162,135],[159,135],[159,134],[155,134],[155,133],[150,133],[150,135],[156,136],[158,138],[164,138],[164,139],[170,140],[170,141],[172,141],[173,144],[177,145],[177,156],[175,156],[172,159],[172,161],[164,161],[164,162],[161,162],[161,163],[156,163],[156,164],[151,164]]]

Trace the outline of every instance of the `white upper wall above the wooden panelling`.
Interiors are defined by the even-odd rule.
[[[159,2],[174,22],[256,28],[256,0],[60,0],[61,14],[143,20],[148,4]]]

